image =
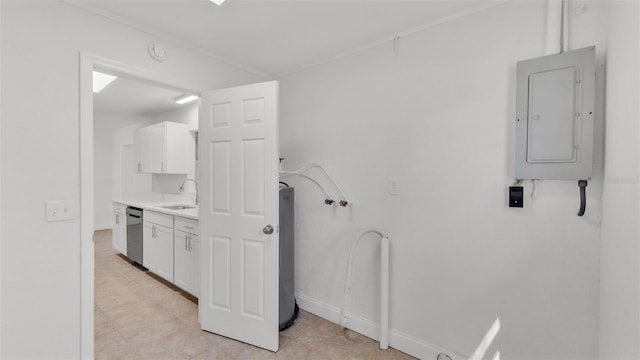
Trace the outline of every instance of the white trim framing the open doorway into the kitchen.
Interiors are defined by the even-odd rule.
[[[114,72],[150,85],[200,94],[175,71],[157,72],[99,55],[80,52],[80,357],[94,357],[94,178],[93,76],[94,69]],[[169,73],[173,75],[169,75]]]

